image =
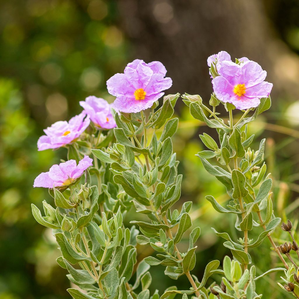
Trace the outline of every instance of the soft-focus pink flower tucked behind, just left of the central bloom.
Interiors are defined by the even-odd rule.
[[[85,101],[80,101],[80,106],[84,108],[91,121],[104,129],[116,127],[115,120],[111,113],[111,105],[102,98],[90,96]]]

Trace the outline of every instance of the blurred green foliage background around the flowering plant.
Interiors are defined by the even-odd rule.
[[[128,2],[10,0],[0,3],[1,299],[70,298],[66,292],[69,287],[66,272],[55,261],[59,256],[57,244],[51,231],[35,222],[30,210],[30,203],[39,207],[44,199],[51,203],[47,190],[33,189],[32,184],[40,172],[48,170],[60,158],[66,158],[66,151],[38,152],[36,142],[42,135],[42,129],[79,113],[79,100],[86,96],[93,94],[112,102],[113,97],[106,91],[106,80],[116,72],[122,72],[129,61],[143,58],[136,56],[136,53],[142,53],[136,50],[141,40],[130,36],[123,27],[126,15],[122,7],[129,5]],[[153,5],[161,2],[153,1]],[[171,5],[171,2],[167,3]],[[299,51],[298,11],[298,1],[263,2],[263,13],[271,20],[271,30],[287,47],[294,61],[297,61]],[[221,46],[219,41],[218,51],[222,50]],[[258,48],[255,51],[257,56],[261,55]],[[214,52],[210,49],[209,53]],[[182,51],[180,55],[184,57],[186,54]],[[146,57],[158,60],[163,55],[156,57],[155,53],[147,53]],[[206,68],[206,57],[200,59]],[[286,73],[291,64],[285,65]],[[179,71],[184,75],[184,70],[173,71],[176,69],[175,59],[166,66],[170,77],[177,78],[176,72]],[[200,76],[208,78],[208,69]],[[274,75],[269,76],[275,84]],[[287,80],[287,75],[285,77]],[[298,89],[298,84],[294,85],[294,90]],[[196,84],[192,88],[196,89]],[[176,86],[170,90],[172,93],[177,91],[188,92],[176,90]],[[208,94],[211,86],[196,92]],[[257,147],[261,136],[268,137],[266,160],[274,179],[276,213],[283,219],[294,219],[296,227],[299,101],[292,93],[284,97],[281,91],[275,90],[272,101],[271,110],[258,118],[249,130],[256,135],[253,147]],[[176,114],[181,121],[173,143],[180,161],[179,171],[184,176],[181,200],[193,201],[191,216],[202,228],[194,270],[200,279],[208,261],[215,258],[222,260],[225,254],[230,254],[210,227],[231,231],[234,236],[234,219],[218,215],[205,201],[208,194],[213,194],[221,202],[225,202],[227,197],[222,186],[205,172],[194,155],[203,150],[198,133],[205,131],[213,135],[213,131],[195,122],[181,103]],[[134,215],[131,213],[130,217]],[[128,219],[126,221],[129,222]],[[287,236],[277,229],[276,241],[282,242],[284,238]],[[265,240],[251,254],[257,274],[279,265],[275,255],[269,255],[269,246]],[[150,248],[138,248],[138,252],[140,259],[150,254]],[[184,277],[178,282],[164,277],[162,267],[152,267],[151,272],[151,290],[160,289],[160,295],[172,284],[179,284],[181,289],[189,288]],[[259,292],[264,292],[263,298],[288,297],[275,283],[280,281],[279,275],[271,278],[272,281],[269,277],[260,280],[257,286]]]

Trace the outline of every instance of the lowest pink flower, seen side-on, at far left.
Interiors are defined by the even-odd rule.
[[[78,165],[75,160],[69,160],[59,165],[53,165],[48,172],[42,172],[34,180],[33,187],[53,188],[70,185],[92,165],[92,159],[84,156]]]

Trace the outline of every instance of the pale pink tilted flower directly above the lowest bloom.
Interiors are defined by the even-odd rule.
[[[69,144],[78,138],[89,126],[90,119],[83,111],[67,121],[57,121],[51,127],[44,130],[46,135],[39,137],[37,148],[39,151],[45,149],[57,149]],[[84,119],[85,118],[85,119]]]

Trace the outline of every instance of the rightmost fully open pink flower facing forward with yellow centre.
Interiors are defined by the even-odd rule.
[[[264,81],[267,72],[248,58],[240,58],[240,65],[231,61],[217,63],[220,76],[212,80],[216,97],[224,103],[232,103],[237,109],[257,107],[260,99],[268,97],[273,84]]]

